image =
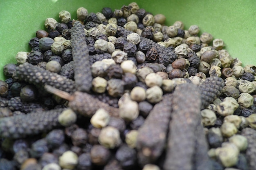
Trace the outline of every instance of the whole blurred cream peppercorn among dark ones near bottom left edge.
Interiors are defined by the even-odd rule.
[[[58,163],[61,168],[74,169],[78,163],[78,156],[75,152],[68,150],[64,152],[59,158]]]

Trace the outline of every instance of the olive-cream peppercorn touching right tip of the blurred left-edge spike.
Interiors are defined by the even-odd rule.
[[[58,122],[65,127],[71,126],[76,122],[76,113],[72,109],[67,108],[58,116]]]

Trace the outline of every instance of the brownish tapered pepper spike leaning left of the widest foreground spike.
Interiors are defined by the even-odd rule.
[[[171,94],[165,95],[139,128],[136,147],[141,166],[155,162],[162,154],[171,119],[171,96]]]

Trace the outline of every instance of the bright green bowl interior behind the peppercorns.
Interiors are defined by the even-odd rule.
[[[85,7],[88,12],[99,12],[103,7],[112,10],[128,5],[130,0],[1,0],[0,1],[0,79],[4,80],[3,67],[16,63],[19,51],[29,52],[28,42],[38,29],[45,29],[46,18],[58,18],[62,10],[76,19],[76,9]],[[140,8],[166,16],[166,25],[180,20],[185,29],[198,25],[200,34],[208,32],[220,38],[225,49],[243,66],[256,65],[256,31],[254,0],[138,0]]]

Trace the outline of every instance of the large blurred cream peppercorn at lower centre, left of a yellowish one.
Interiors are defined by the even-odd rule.
[[[110,149],[116,148],[121,144],[119,130],[111,126],[101,129],[98,140],[102,146]]]

